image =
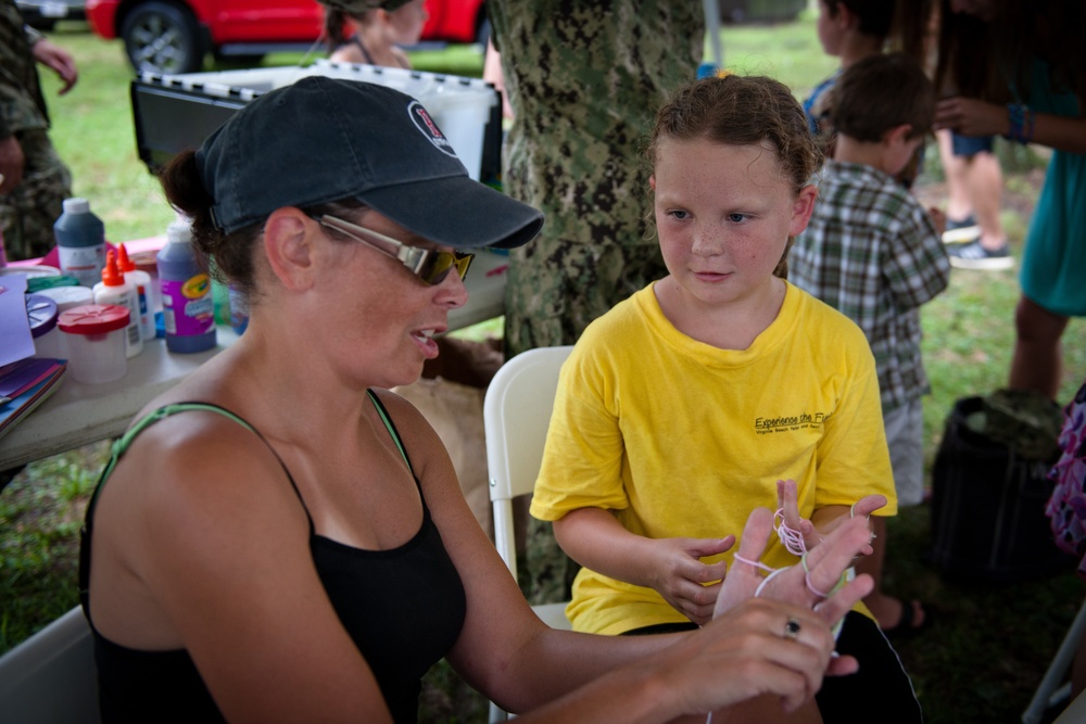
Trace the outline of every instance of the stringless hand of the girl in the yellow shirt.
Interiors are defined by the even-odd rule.
[[[654,542],[649,575],[652,587],[680,613],[698,625],[712,620],[725,561],[703,563],[735,545],[735,536],[723,538],[660,538]],[[712,585],[707,585],[712,584]]]

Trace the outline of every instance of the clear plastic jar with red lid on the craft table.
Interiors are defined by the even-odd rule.
[[[88,304],[61,313],[68,373],[77,382],[111,382],[128,373],[125,336],[131,313],[119,304]]]

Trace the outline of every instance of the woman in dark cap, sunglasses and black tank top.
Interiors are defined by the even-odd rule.
[[[867,544],[861,520],[762,598],[737,567],[693,634],[533,615],[437,434],[387,389],[437,354],[467,250],[527,243],[543,219],[470,180],[417,101],[306,78],[249,103],[163,185],[251,313],[140,414],[88,509],[103,721],[412,722],[442,657],[526,722],[704,720],[760,694],[783,713],[855,670],[831,658],[828,623],[870,580],[819,612],[810,589]],[[752,518],[745,556],[771,519]]]

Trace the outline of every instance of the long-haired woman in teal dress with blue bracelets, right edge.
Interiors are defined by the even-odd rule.
[[[1010,386],[1056,398],[1060,339],[1086,316],[1086,3],[943,0],[935,123],[1052,149],[1022,258]]]

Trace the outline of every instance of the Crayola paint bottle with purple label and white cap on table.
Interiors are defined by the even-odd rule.
[[[215,346],[215,303],[211,277],[192,249],[192,229],[178,218],[166,230],[167,243],[155,257],[162,288],[166,348],[203,352]]]

